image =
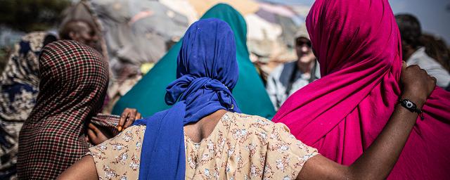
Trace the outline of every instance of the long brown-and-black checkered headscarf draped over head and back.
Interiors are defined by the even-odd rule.
[[[45,46],[39,72],[37,103],[19,136],[19,179],[55,179],[87,152],[86,124],[108,85],[102,56],[76,41]]]

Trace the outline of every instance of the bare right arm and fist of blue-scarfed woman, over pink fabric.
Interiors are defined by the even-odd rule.
[[[404,86],[402,98],[409,99],[422,108],[426,98],[435,88],[436,79],[428,76],[417,65],[401,71]],[[349,167],[339,165],[322,155],[309,159],[297,179],[386,179],[404,148],[418,114],[396,105],[383,131]]]

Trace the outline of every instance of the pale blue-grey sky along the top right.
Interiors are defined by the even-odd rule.
[[[266,0],[281,4],[311,6],[314,0]],[[411,13],[419,19],[424,32],[443,37],[450,45],[450,0],[389,0],[392,11]]]

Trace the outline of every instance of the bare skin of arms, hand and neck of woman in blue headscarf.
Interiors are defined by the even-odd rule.
[[[418,108],[423,107],[436,86],[436,79],[417,65],[406,68],[404,63],[400,80],[403,86],[401,98],[413,101]],[[207,137],[217,124],[217,117],[223,113],[219,110],[197,123],[188,124],[184,127],[186,135],[193,141]],[[383,131],[352,165],[339,165],[322,155],[316,155],[307,160],[297,179],[385,179],[397,162],[417,117],[417,113],[396,105]],[[212,122],[206,122],[208,120]],[[58,179],[98,179],[94,159],[90,155],[85,156]]]

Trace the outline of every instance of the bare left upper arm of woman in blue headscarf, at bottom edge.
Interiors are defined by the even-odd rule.
[[[98,179],[96,164],[92,155],[86,155],[81,160],[65,169],[63,174],[58,176],[58,180],[84,180]]]

